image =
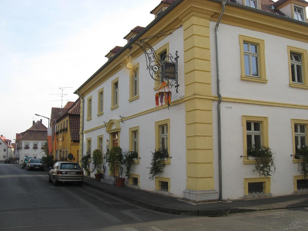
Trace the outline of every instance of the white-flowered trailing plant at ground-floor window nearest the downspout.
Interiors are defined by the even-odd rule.
[[[274,153],[275,154],[275,153]],[[260,176],[271,176],[271,173],[276,171],[276,166],[274,164],[274,154],[269,147],[262,146],[261,148],[256,148],[252,146],[247,150],[247,156],[255,157],[255,167],[254,172],[259,172]]]

